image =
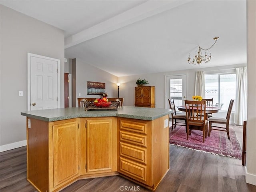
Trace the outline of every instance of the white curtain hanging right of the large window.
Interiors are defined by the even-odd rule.
[[[242,125],[247,119],[247,75],[246,67],[236,68],[236,105],[234,123]]]

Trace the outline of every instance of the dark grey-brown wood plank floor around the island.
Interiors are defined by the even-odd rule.
[[[26,180],[26,146],[0,153],[0,191],[37,191]],[[120,176],[79,180],[61,192],[121,191],[150,192]],[[256,192],[256,186],[245,182],[241,160],[170,146],[170,171],[156,192]]]

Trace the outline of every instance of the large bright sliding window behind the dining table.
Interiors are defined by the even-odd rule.
[[[230,100],[236,98],[236,74],[205,74],[204,79],[205,97],[213,98],[214,104],[219,106],[223,104],[221,110],[228,110]]]

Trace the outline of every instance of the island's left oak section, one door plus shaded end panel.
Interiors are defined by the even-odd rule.
[[[27,123],[27,178],[38,191],[57,191],[80,174],[79,118]]]

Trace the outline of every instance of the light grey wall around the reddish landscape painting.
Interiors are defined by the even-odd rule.
[[[76,98],[100,97],[100,95],[87,95],[87,81],[105,83],[108,97],[117,97],[117,79],[116,76],[86,64],[82,60],[79,60],[79,58],[76,58]],[[79,93],[81,96],[78,95]],[[78,102],[76,102],[76,106],[78,106]]]

